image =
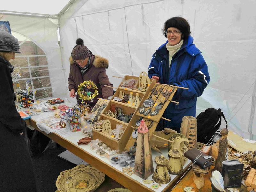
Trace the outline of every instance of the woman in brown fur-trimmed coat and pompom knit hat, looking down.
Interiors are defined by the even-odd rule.
[[[77,87],[80,83],[92,80],[94,84],[98,87],[98,97],[107,99],[109,96],[113,96],[113,88],[105,87],[108,85],[113,87],[113,84],[109,82],[108,76],[106,74],[106,69],[108,68],[108,60],[95,56],[92,52],[84,45],[82,39],[76,40],[76,46],[71,52],[70,61],[70,72],[68,78],[68,89],[70,91],[69,96],[75,97],[79,104],[79,96],[75,94],[77,92]],[[91,108],[97,103],[98,99],[94,98],[88,104]]]

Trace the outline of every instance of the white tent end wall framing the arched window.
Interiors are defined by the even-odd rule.
[[[3,16],[3,17],[2,17]],[[58,26],[46,18],[2,15],[1,21],[9,21],[13,32],[30,38],[46,54],[53,96],[66,94],[66,84],[57,41]]]

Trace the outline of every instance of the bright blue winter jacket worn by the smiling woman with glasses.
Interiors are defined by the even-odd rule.
[[[148,67],[148,76],[158,76],[159,83],[187,87],[177,89],[173,101],[179,105],[170,103],[164,112],[164,117],[171,122],[164,121],[164,127],[180,130],[182,117],[196,115],[197,97],[203,94],[210,81],[208,67],[199,49],[193,44],[191,36],[184,40],[180,50],[172,57],[169,68],[169,52],[166,43],[156,50]]]

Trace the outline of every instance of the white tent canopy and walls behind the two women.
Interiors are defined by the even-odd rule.
[[[221,108],[229,129],[256,140],[255,1],[45,2],[31,3],[21,10],[22,6],[8,7],[7,2],[1,7],[5,11],[0,11],[0,21],[9,21],[13,32],[30,38],[45,52],[54,96],[68,97],[68,58],[78,37],[93,54],[108,58],[107,74],[114,86],[118,86],[120,79],[112,75],[138,76],[147,71],[152,54],[166,41],[161,33],[164,22],[182,16],[190,23],[191,36],[206,60],[211,77],[198,98],[197,115],[209,107]],[[57,6],[53,5],[55,2]]]

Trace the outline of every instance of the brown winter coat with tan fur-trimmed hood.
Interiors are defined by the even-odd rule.
[[[77,87],[80,83],[92,80],[94,84],[98,87],[99,95],[97,97],[107,99],[109,96],[113,96],[113,88],[105,87],[108,85],[113,87],[113,84],[109,82],[108,76],[106,74],[106,69],[108,68],[108,60],[100,56],[91,56],[90,68],[82,76],[79,65],[69,58],[70,61],[70,72],[68,78],[68,89],[75,89],[77,92]],[[79,102],[79,96],[76,95],[77,102]],[[94,98],[93,102],[89,102],[91,107],[97,103],[98,99]]]

